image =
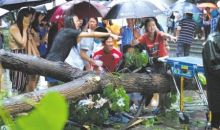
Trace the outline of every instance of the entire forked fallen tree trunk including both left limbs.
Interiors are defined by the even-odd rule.
[[[96,92],[108,83],[122,85],[127,92],[161,93],[169,92],[174,88],[169,82],[169,76],[162,74],[126,73],[119,76],[105,74],[97,82],[92,78],[95,77],[93,72],[83,72],[67,64],[51,62],[35,56],[12,54],[0,50],[0,61],[8,69],[19,70],[29,74],[51,76],[64,82],[71,81],[46,90],[26,93],[4,100],[3,106],[12,114],[30,110],[33,106],[26,102],[27,99],[39,102],[43,95],[50,91],[57,91],[66,99],[73,99]],[[195,89],[195,87],[193,88]]]

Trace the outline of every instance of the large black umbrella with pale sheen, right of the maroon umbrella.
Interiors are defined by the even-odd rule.
[[[154,17],[162,11],[149,1],[130,0],[114,5],[105,19]]]

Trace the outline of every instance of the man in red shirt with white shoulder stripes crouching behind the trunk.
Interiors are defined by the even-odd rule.
[[[101,41],[103,48],[94,53],[93,59],[102,62],[101,67],[105,72],[114,72],[122,58],[122,53],[113,47],[112,37],[105,37]],[[100,68],[97,65],[94,66],[94,70],[100,72]]]

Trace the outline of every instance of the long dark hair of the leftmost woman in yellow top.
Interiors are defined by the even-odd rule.
[[[25,7],[25,8],[22,8],[21,10],[18,11],[16,24],[18,26],[20,33],[21,33],[21,36],[23,36],[23,19],[24,19],[24,17],[27,17],[30,14],[33,14],[34,11],[35,10],[30,7]]]

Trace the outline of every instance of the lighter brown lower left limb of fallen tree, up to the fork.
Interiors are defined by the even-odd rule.
[[[28,101],[38,103],[41,98],[48,92],[56,91],[65,96],[66,99],[79,98],[87,93],[97,91],[99,89],[96,80],[88,80],[89,75],[76,79],[72,82],[48,88],[46,90],[29,92],[3,100],[2,106],[11,114],[27,112],[33,108]]]

